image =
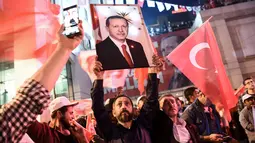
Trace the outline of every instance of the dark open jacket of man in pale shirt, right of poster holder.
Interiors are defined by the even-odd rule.
[[[187,123],[186,129],[190,133],[192,142],[199,143],[199,135],[197,134],[196,127]],[[173,121],[161,110],[157,111],[153,120],[151,133],[153,143],[177,143],[173,134]]]

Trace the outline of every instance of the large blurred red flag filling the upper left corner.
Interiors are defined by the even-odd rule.
[[[50,0],[2,0],[0,9],[0,58],[39,58],[44,61],[54,48],[60,27],[60,6]],[[56,43],[56,42],[55,42]],[[41,58],[44,56],[45,58]]]

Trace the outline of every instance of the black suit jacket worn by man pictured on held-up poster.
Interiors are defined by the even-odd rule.
[[[143,46],[133,40],[126,39],[135,68],[149,67]],[[114,42],[107,37],[96,45],[98,61],[103,65],[104,70],[130,68],[125,57],[121,54]]]

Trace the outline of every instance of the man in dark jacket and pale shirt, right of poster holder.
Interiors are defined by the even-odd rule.
[[[153,143],[199,142],[195,126],[178,117],[177,99],[173,95],[162,95],[159,104],[151,132]]]

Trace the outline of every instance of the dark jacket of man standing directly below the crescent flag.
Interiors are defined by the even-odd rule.
[[[214,120],[208,119],[208,116],[204,112],[204,106],[198,99],[195,100],[187,109],[183,112],[181,118],[184,119],[188,124],[193,124],[197,127],[199,135],[205,136],[212,134],[212,123],[214,122],[216,126],[216,132],[221,134],[221,126],[220,126],[220,115],[216,111],[215,106],[212,104],[210,106],[212,109],[212,113],[214,116]]]

